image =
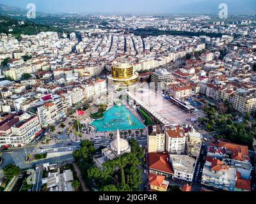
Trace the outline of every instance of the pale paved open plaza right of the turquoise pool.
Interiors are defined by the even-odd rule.
[[[138,89],[136,92],[127,92],[127,94],[136,101],[136,103],[143,103],[143,108],[150,113],[157,113],[163,119],[167,120],[167,124],[188,124],[191,115],[183,112],[178,106],[173,105],[170,101],[163,98],[161,94],[157,94],[149,89]],[[167,125],[166,124],[166,125]]]

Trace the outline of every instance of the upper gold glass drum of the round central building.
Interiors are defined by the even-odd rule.
[[[114,79],[126,80],[132,78],[133,75],[133,66],[131,65],[125,64],[112,67],[112,77]]]

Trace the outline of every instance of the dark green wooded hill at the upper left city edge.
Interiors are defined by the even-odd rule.
[[[63,32],[63,30],[58,27],[39,25],[30,21],[15,20],[10,17],[0,16],[0,33],[11,33],[18,40],[20,39],[20,34],[38,34],[47,31]]]

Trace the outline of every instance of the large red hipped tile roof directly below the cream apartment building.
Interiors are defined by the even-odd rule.
[[[148,154],[148,163],[149,163],[149,168],[152,170],[157,170],[157,171],[163,171],[164,173],[170,173],[173,174],[173,168],[172,165],[170,164],[168,154],[164,153],[149,153]]]

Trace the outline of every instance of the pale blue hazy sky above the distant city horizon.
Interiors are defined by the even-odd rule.
[[[196,13],[218,15],[220,3],[227,3],[230,12],[256,11],[255,0],[0,0],[0,4],[25,8],[35,3],[36,10],[49,13],[134,13],[171,14]]]

